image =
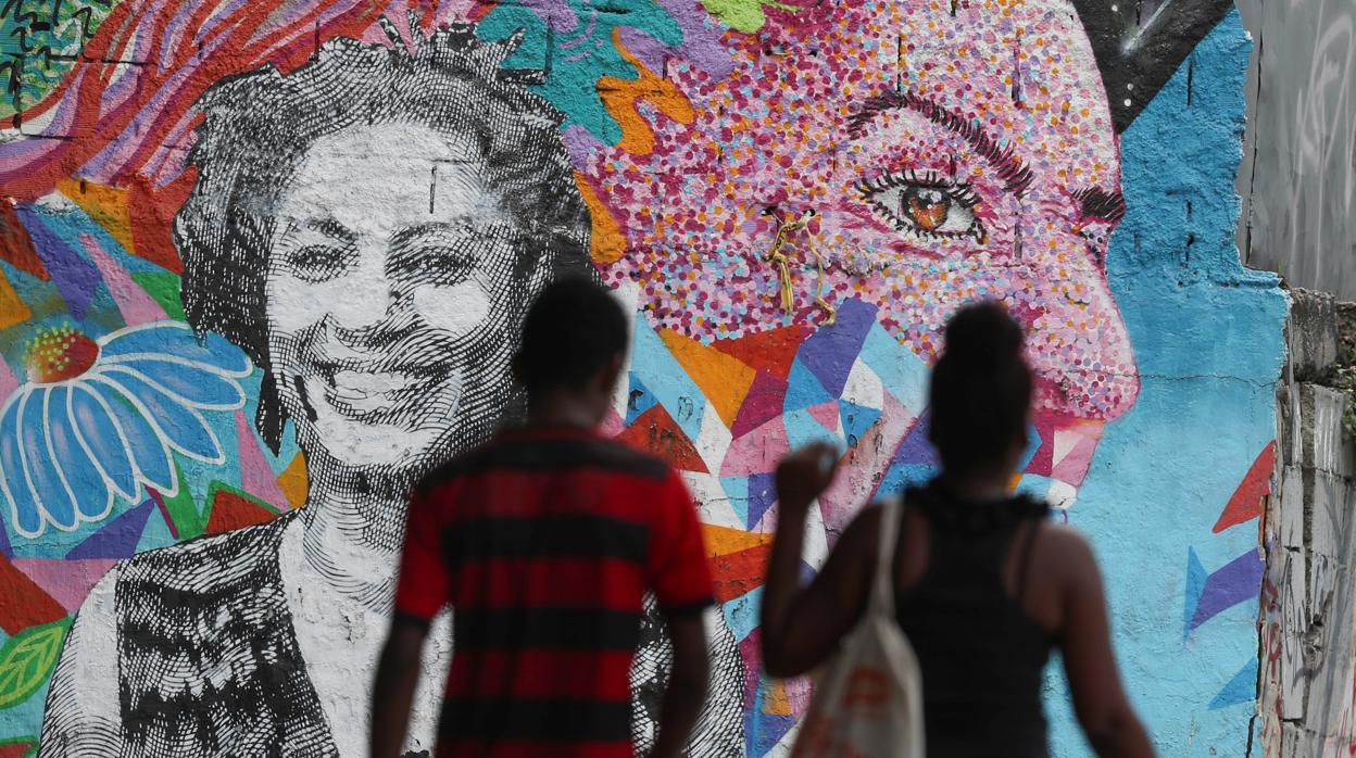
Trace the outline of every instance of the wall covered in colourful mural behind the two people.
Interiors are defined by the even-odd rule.
[[[853,449],[812,570],[933,471],[941,325],[998,297],[1018,487],[1097,546],[1162,753],[1242,755],[1285,313],[1234,247],[1249,45],[1128,5],[5,7],[0,755],[361,746],[400,495],[514,414],[522,305],[580,270],[637,313],[609,430],[708,525],[696,754],[780,754],[808,697],[757,660],[777,457]]]

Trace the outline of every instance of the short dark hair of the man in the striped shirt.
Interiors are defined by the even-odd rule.
[[[560,279],[537,296],[522,325],[518,378],[527,395],[578,389],[626,353],[626,313],[610,292],[583,277]]]

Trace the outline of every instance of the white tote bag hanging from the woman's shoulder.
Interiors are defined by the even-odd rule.
[[[895,621],[895,537],[903,507],[881,503],[871,602],[820,671],[792,758],[923,758],[918,656]]]

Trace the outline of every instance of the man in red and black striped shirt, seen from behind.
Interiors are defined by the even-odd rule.
[[[404,738],[428,622],[453,609],[437,754],[629,758],[643,597],[674,663],[652,757],[679,754],[706,690],[711,572],[678,475],[595,431],[628,335],[586,279],[546,287],[514,370],[527,424],[434,472],[410,506],[396,620],[373,690],[372,754]]]

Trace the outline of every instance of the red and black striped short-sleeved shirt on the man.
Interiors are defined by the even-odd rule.
[[[593,433],[499,434],[410,507],[396,614],[453,607],[438,755],[629,758],[641,603],[713,602],[678,475]]]

